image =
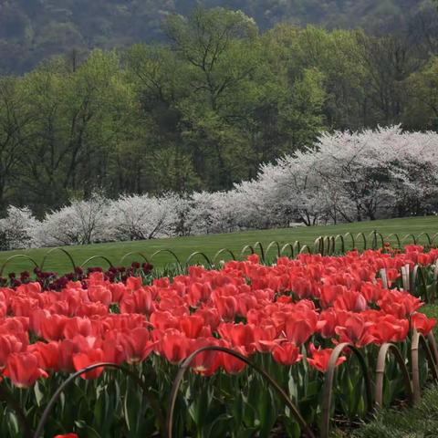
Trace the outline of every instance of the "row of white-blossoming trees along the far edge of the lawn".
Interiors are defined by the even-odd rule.
[[[323,134],[314,149],[260,168],[228,192],[161,197],[94,194],[38,221],[10,206],[0,249],[85,245],[174,235],[205,235],[293,224],[333,224],[434,214],[438,134],[399,126]]]

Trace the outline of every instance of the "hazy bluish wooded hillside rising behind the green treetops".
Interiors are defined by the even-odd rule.
[[[436,25],[433,0],[4,0],[0,2],[0,72],[24,72],[72,49],[127,47],[166,41],[170,14],[197,5],[242,10],[262,31],[279,23],[362,27],[373,34],[414,34],[427,40]],[[435,24],[433,24],[433,21]]]

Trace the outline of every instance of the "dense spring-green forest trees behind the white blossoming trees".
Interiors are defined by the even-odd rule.
[[[34,3],[3,2],[0,16],[7,5],[25,11]],[[40,3],[55,14],[61,2]],[[104,5],[119,11],[113,3],[69,2],[76,12],[68,16],[104,20]],[[326,2],[335,3],[365,2]],[[420,16],[411,11],[406,20]],[[21,28],[6,23],[0,32]],[[166,16],[161,44],[84,53],[69,39],[67,54],[40,53],[36,68],[0,77],[0,210],[28,205],[40,216],[96,191],[226,190],[254,178],[261,163],[313,147],[323,131],[436,130],[437,23],[431,7],[409,32],[292,24],[261,32],[243,12],[195,8]]]

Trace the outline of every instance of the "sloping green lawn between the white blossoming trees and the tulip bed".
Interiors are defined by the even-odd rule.
[[[150,241],[66,246],[65,249],[67,249],[68,253],[72,255],[76,265],[82,265],[84,261],[93,255],[104,255],[110,259],[113,265],[117,266],[120,264],[120,258],[127,253],[141,252],[147,257],[150,257],[155,251],[160,249],[171,249],[176,255],[178,255],[180,260],[184,262],[187,257],[195,251],[203,251],[209,257],[213,257],[218,250],[228,248],[235,251],[236,255],[239,255],[241,249],[245,245],[254,245],[257,241],[261,242],[263,245],[267,245],[274,240],[280,245],[285,245],[287,243],[293,244],[298,240],[302,245],[311,245],[313,248],[315,239],[320,235],[343,235],[348,232],[353,235],[360,232],[370,234],[373,230],[379,231],[384,236],[398,233],[402,237],[408,234],[420,235],[423,232],[434,235],[435,233],[438,233],[438,216],[388,219],[354,224],[248,231],[224,235],[175,237]],[[395,240],[392,241],[395,242]],[[358,240],[358,244],[360,245],[360,240]],[[349,245],[351,245],[350,240],[346,239],[347,248]],[[5,260],[12,255],[27,255],[32,257],[37,264],[40,264],[44,255],[47,254],[48,249],[49,248],[41,248],[0,252],[0,266],[2,266],[5,263]],[[272,255],[274,256],[274,250]],[[226,258],[227,255],[224,254],[223,257]],[[130,255],[125,259],[124,265],[133,260],[139,262],[142,261],[140,255]],[[201,258],[197,260],[202,261]],[[154,266],[165,266],[172,262],[174,262],[172,255],[166,253],[160,253],[152,260]],[[89,263],[89,266],[107,265],[108,263],[103,259],[95,259]],[[11,271],[21,272],[32,268],[33,265],[30,260],[16,257],[5,266],[4,274]],[[72,266],[67,255],[54,251],[47,256],[44,268],[62,274],[71,271]]]

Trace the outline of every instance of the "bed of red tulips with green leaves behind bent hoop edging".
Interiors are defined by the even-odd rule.
[[[418,311],[437,259],[408,245],[172,278],[14,277],[0,287],[0,436],[327,437],[414,402],[437,378],[435,320]]]

